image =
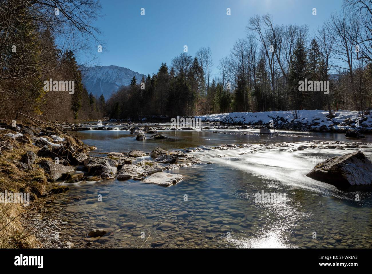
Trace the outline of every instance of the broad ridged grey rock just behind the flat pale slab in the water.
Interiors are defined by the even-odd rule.
[[[118,180],[143,180],[148,175],[163,171],[164,167],[154,161],[143,160],[133,165],[124,165],[118,173]]]

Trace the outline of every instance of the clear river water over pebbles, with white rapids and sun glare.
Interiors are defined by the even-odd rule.
[[[203,163],[167,171],[185,176],[168,188],[135,180],[69,183],[49,210],[63,207],[59,218],[69,223],[61,236],[82,248],[87,241],[94,248],[149,248],[155,241],[164,242],[162,248],[371,248],[371,193],[343,192],[305,176],[316,163],[355,151],[324,141],[350,140],[337,133],[257,132],[169,130],[159,133],[170,139],[145,141],[121,130],[77,132],[95,153],[194,148]],[[251,145],[213,148],[221,144]],[[372,146],[358,149],[372,160]],[[255,202],[262,191],[286,199]],[[109,233],[91,239],[95,228]]]

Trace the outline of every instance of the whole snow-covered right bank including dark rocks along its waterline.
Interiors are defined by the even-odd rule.
[[[346,132],[355,129],[359,132],[372,133],[371,114],[361,115],[359,111],[333,111],[335,117],[328,118],[328,111],[299,110],[299,119],[294,119],[291,110],[264,112],[230,112],[205,116],[202,122],[219,122],[225,124],[239,124],[252,126],[267,126],[270,123],[277,129]]]

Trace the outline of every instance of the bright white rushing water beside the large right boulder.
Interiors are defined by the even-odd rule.
[[[304,148],[304,150],[297,150]],[[294,151],[292,151],[294,150]],[[327,158],[344,155],[356,149],[330,149],[322,143],[311,148],[308,143],[291,143],[290,147],[272,145],[250,145],[247,148],[227,150],[207,148],[193,152],[204,162],[211,162],[228,169],[241,170],[259,177],[273,188],[290,186],[307,189],[315,193],[345,198],[342,191],[333,185],[319,182],[306,176],[315,166]],[[372,147],[363,148],[369,159]]]

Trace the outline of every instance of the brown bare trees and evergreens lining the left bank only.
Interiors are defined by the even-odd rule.
[[[103,105],[81,83],[76,54],[95,45],[95,0],[0,1],[0,119],[100,119]],[[58,44],[58,46],[57,46]],[[44,82],[74,81],[74,92]]]

